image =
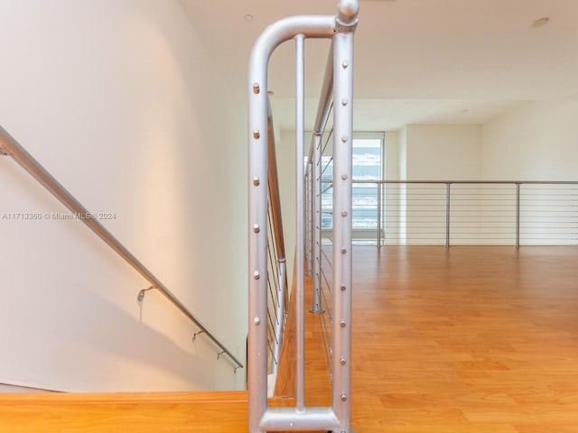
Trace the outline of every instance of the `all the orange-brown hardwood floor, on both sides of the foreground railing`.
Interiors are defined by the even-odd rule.
[[[356,247],[354,262],[355,431],[578,432],[578,248]],[[274,405],[294,394],[287,332]],[[328,405],[312,313],[305,345],[306,403]],[[60,431],[246,432],[247,392],[0,395],[0,432]]]

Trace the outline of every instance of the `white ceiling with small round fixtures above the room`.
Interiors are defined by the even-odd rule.
[[[360,0],[355,45],[356,129],[483,123],[527,100],[578,99],[578,0]],[[268,23],[333,14],[335,0],[182,0],[235,97]],[[252,14],[252,22],[245,20]],[[549,23],[532,23],[548,16]],[[293,113],[293,44],[270,63],[269,87]],[[306,95],[314,111],[327,41],[307,41]],[[311,113],[313,116],[314,113]],[[285,126],[287,127],[287,126]]]

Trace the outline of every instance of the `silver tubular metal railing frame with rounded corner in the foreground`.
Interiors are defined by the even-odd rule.
[[[357,0],[341,0],[337,16],[303,15],[269,26],[257,39],[249,61],[249,333],[248,428],[250,433],[283,430],[350,432],[351,418],[351,141],[353,97],[353,33],[358,23]],[[333,216],[332,310],[339,327],[332,332],[332,351],[338,363],[331,367],[331,407],[304,403],[304,272],[305,173],[304,161],[304,41],[331,39],[315,131],[321,131],[333,104]],[[268,140],[267,65],[275,48],[293,39],[296,45],[296,254],[295,254],[295,407],[267,404],[267,280],[268,280]],[[313,134],[313,142],[318,140]],[[310,193],[310,197],[312,197]],[[309,218],[310,220],[312,218]],[[311,244],[311,243],[309,243]],[[312,257],[312,254],[310,254]]]

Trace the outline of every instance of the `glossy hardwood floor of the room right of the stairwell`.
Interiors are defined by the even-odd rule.
[[[578,248],[356,247],[354,281],[356,431],[578,431]],[[306,400],[327,404],[306,327]]]

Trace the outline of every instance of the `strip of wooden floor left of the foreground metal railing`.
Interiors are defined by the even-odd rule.
[[[6,433],[247,431],[247,392],[0,394]]]

